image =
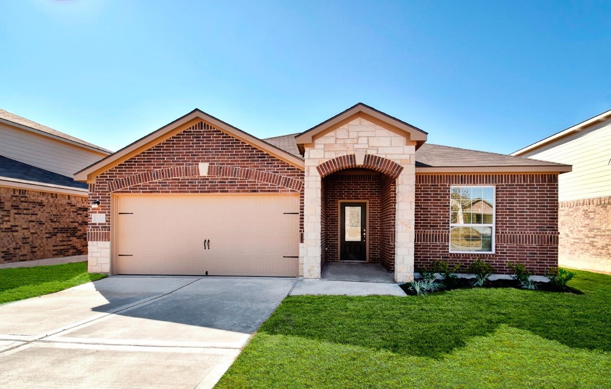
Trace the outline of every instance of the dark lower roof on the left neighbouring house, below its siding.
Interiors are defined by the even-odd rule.
[[[49,184],[52,186],[62,186],[87,190],[86,183],[79,183],[70,177],[49,170],[40,169],[15,159],[0,156],[0,180],[37,184]]]

